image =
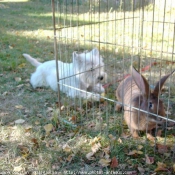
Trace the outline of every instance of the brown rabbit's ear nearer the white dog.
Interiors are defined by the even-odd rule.
[[[144,76],[142,76],[134,67],[130,67],[132,77],[137,84],[138,88],[142,92],[143,96],[148,98],[149,96],[149,84],[148,81],[145,79]]]

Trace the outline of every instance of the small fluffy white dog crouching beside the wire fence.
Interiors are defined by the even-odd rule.
[[[23,54],[23,56],[37,67],[30,79],[33,88],[50,86],[54,91],[58,91],[56,61],[40,63],[28,54]],[[80,54],[73,52],[72,57],[72,63],[58,61],[60,90],[73,98],[78,96],[99,100],[99,94],[104,92],[102,82],[106,80],[107,75],[98,49],[94,48],[90,52]]]

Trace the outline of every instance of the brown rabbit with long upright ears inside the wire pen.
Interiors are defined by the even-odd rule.
[[[150,92],[148,81],[135,68],[131,67],[132,75],[125,78],[116,90],[116,96],[119,102],[124,106],[124,119],[130,129],[133,137],[138,137],[138,131],[150,131],[156,127],[156,124],[162,123],[157,116],[145,113],[143,111],[134,109],[139,108],[150,113],[165,116],[165,110],[162,100],[158,95],[167,80],[167,78],[174,72],[162,77],[157,82],[153,92]],[[119,110],[121,105],[116,106]]]

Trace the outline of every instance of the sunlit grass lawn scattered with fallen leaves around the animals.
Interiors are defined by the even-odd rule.
[[[131,62],[138,65],[139,57],[142,66],[153,61],[153,57],[161,63],[151,69],[155,75],[150,80],[152,84],[159,79],[160,69],[165,74],[175,68],[171,62],[167,64],[167,60],[173,61],[174,29],[170,22],[173,21],[174,8],[165,12],[167,25],[160,22],[152,25],[151,21],[145,20],[141,26],[139,8],[133,13],[128,4],[123,13],[124,7],[117,7],[113,1],[109,1],[108,7],[102,2],[100,8],[94,2],[80,3],[80,6],[68,4],[67,7],[61,4],[57,25],[58,52],[60,59],[70,61],[73,51],[98,47],[106,63],[109,81],[113,82],[106,97],[115,99],[117,80],[123,72],[128,72]],[[161,10],[155,8],[155,21],[162,21]],[[151,5],[145,6],[145,19],[152,19],[152,9]],[[128,19],[121,20],[124,15]],[[140,139],[133,140],[128,137],[122,113],[115,112],[113,102],[92,103],[69,99],[62,94],[63,110],[58,118],[57,93],[47,88],[31,88],[29,78],[34,68],[25,61],[22,53],[39,57],[41,61],[54,58],[52,13],[48,1],[5,0],[0,2],[0,16],[0,171],[64,174],[73,170],[127,170],[141,173],[140,167],[146,174],[153,173],[157,163],[163,162],[167,164],[165,174],[173,172],[173,129],[163,133],[166,139],[160,137],[156,143],[146,140],[144,133]],[[144,75],[149,78],[150,73]],[[162,97],[165,105],[172,107],[170,118],[173,118],[173,78],[170,86],[170,94],[165,90]],[[164,148],[160,153],[157,143],[165,143],[168,151]],[[92,150],[95,150],[94,154],[88,159],[87,154]],[[141,152],[131,154],[133,150]],[[154,157],[154,162],[145,163],[145,155]],[[110,168],[104,162],[103,167],[99,163],[113,157],[119,161],[117,168]]]

